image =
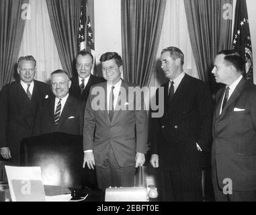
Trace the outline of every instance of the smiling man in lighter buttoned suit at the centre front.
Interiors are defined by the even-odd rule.
[[[135,85],[120,78],[121,56],[107,52],[100,61],[107,82],[91,88],[85,107],[83,167],[96,166],[99,188],[105,191],[110,186],[134,186],[135,167],[145,161],[148,120],[140,108],[143,98],[138,103],[128,99],[133,95],[128,88]]]

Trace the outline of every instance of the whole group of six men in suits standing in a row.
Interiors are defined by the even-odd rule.
[[[121,56],[106,52],[100,61],[104,79],[91,75],[93,56],[79,52],[78,76],[70,79],[67,72],[54,71],[51,92],[48,85],[34,80],[36,60],[19,58],[20,80],[5,85],[0,93],[1,156],[19,164],[19,142],[24,137],[81,134],[83,167],[96,169],[99,188],[133,186],[135,168],[145,162],[144,100],[141,97],[138,105],[137,99],[128,99],[129,89],[136,85],[121,79]],[[152,119],[150,160],[159,170],[160,199],[202,201],[200,157],[212,150],[216,200],[255,201],[256,87],[241,75],[243,58],[233,50],[217,54],[212,74],[226,87],[216,94],[215,109],[206,84],[185,74],[183,62],[179,48],[161,52],[161,68],[169,81],[161,86],[163,95],[157,91],[157,101],[164,100],[164,114]]]

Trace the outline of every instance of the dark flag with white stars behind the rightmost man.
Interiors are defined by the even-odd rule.
[[[244,77],[253,81],[253,52],[246,0],[237,0],[232,48],[245,59]]]

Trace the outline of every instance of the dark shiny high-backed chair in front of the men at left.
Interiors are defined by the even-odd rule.
[[[83,169],[83,136],[50,133],[24,138],[22,165],[41,167],[44,185],[95,189],[95,171]]]

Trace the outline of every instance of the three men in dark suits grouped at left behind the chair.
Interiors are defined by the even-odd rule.
[[[1,156],[19,165],[22,138],[50,132],[83,134],[83,114],[91,85],[104,81],[91,75],[93,56],[81,51],[76,57],[79,77],[56,70],[50,85],[34,80],[36,60],[22,56],[17,62],[19,80],[5,85],[0,93]],[[81,77],[80,77],[81,76]],[[81,80],[87,80],[84,87]]]

